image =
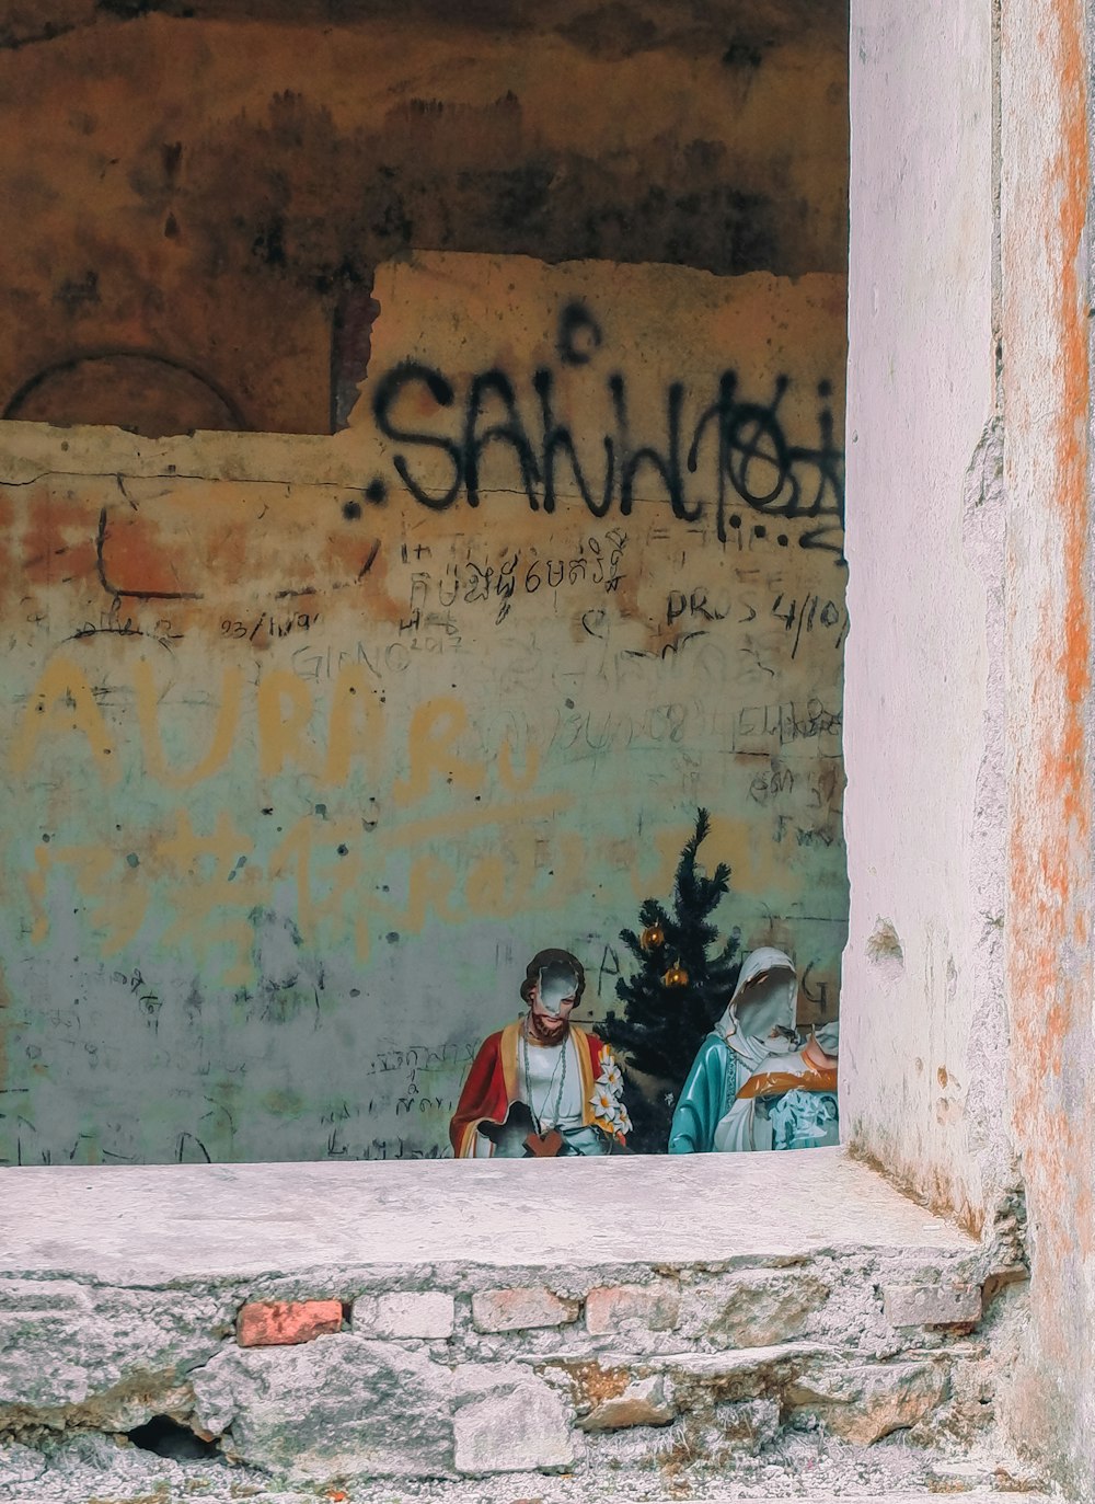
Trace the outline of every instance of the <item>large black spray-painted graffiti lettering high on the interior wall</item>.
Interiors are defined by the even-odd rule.
[[[563,310],[557,352],[563,365],[587,365],[603,346],[594,317],[581,305]],[[457,399],[444,371],[421,361],[403,361],[387,371],[373,394],[373,418],[379,432],[399,445],[393,466],[414,499],[435,511],[451,507],[462,495],[469,507],[480,504],[480,469],[490,445],[508,447],[516,459],[520,486],[532,511],[554,513],[560,501],[564,472],[576,486],[594,517],[615,508],[632,511],[636,478],[653,471],[665,490],[672,514],[681,522],[698,522],[711,504],[689,486],[687,477],[701,468],[710,477],[714,465],[714,519],[720,541],[726,541],[742,517],[736,507],[748,507],[769,517],[805,519],[800,534],[805,549],[826,549],[842,561],[844,543],[844,451],[835,444],[833,414],[829,406],[832,387],[820,382],[817,396],[818,438],[814,445],[791,444],[779,409],[791,385],[778,376],[767,402],[743,399],[739,376],[725,370],[714,399],[686,423],[683,382],[666,388],[666,433],[659,442],[639,442],[632,432],[627,381],[620,371],[606,379],[614,432],[602,438],[603,472],[594,478],[579,459],[575,432],[555,412],[555,373],[540,367],[532,373],[537,415],[526,423],[522,402],[510,378],[499,368],[471,378]],[[454,409],[457,432],[421,426],[420,418],[405,418],[423,399],[438,409]],[[444,490],[429,490],[415,474],[414,454],[441,454],[448,466]],[[370,481],[370,495],[379,499],[384,481]]]

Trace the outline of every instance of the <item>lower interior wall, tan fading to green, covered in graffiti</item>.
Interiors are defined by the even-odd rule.
[[[11,1161],[441,1152],[528,957],[612,1003],[698,805],[835,1012],[844,280],[375,293],[332,438],[8,433]]]

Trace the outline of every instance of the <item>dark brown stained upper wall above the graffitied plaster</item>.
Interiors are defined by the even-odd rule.
[[[842,272],[845,26],[800,0],[2,5],[0,409],[331,432],[376,266],[412,247]]]

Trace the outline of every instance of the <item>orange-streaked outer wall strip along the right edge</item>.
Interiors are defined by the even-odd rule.
[[[1012,1426],[1095,1498],[1090,8],[1002,32],[1008,1003],[1032,1322]]]

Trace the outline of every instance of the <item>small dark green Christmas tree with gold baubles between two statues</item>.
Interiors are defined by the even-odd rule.
[[[635,1125],[629,1145],[639,1154],[666,1152],[677,1095],[704,1035],[729,1002],[742,969],[737,934],[708,955],[719,937],[710,916],[729,890],[725,862],[719,862],[710,877],[696,866],[696,854],[710,829],[707,811],[699,809],[695,833],[677,863],[672,913],[656,898],[647,898],[639,908],[642,932],[620,932],[639,969],[617,981],[617,996],[626,1008],[623,1018],[608,1014],[605,1033],[633,1071],[653,1078],[653,1096],[629,1083],[633,1086],[627,1095]]]

